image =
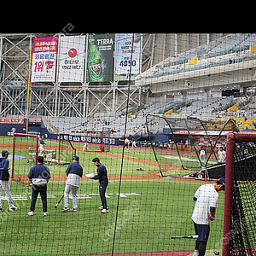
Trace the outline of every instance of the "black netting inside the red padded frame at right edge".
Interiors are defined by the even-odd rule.
[[[255,141],[236,144],[234,195],[230,228],[230,255],[256,252],[256,147]]]

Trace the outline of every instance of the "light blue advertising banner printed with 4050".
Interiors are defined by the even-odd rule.
[[[132,49],[133,48],[133,49]],[[131,60],[132,50],[132,60]],[[117,34],[115,80],[128,80],[131,69],[131,80],[140,74],[141,67],[141,34],[134,34],[132,47],[132,34]]]

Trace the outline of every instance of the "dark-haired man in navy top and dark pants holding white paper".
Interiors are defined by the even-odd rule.
[[[97,175],[90,177],[90,179],[98,179],[100,186],[100,197],[102,201],[102,206],[99,207],[102,213],[108,213],[107,200],[106,200],[106,189],[108,187],[108,174],[106,166],[102,165],[100,160],[96,157],[93,160],[94,165],[97,167]]]

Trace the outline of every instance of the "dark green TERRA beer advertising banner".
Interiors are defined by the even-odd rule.
[[[87,82],[113,81],[113,47],[113,33],[89,35]]]

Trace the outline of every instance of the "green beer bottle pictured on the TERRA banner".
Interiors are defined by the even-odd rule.
[[[89,36],[88,71],[90,82],[103,82],[102,57],[96,49],[95,39]]]

